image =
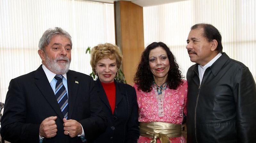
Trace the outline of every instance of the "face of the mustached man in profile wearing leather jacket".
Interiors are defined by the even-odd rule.
[[[213,54],[211,51],[211,42],[203,36],[203,33],[203,28],[191,30],[188,34],[186,46],[190,61],[202,66],[211,61]]]

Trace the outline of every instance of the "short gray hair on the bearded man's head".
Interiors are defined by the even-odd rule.
[[[44,32],[44,34],[42,35],[42,37],[39,40],[39,44],[38,44],[39,49],[43,50],[45,52],[45,46],[49,45],[52,37],[54,37],[55,35],[62,35],[62,36],[67,37],[70,41],[70,46],[72,49],[72,41],[71,41],[70,34],[60,27],[55,27],[54,29],[50,28]]]

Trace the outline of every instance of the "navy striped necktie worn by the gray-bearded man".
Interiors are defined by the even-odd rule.
[[[54,77],[57,80],[55,86],[55,97],[57,102],[61,108],[62,114],[64,118],[68,118],[68,111],[69,111],[69,99],[68,94],[65,86],[62,83],[63,75],[55,75]]]

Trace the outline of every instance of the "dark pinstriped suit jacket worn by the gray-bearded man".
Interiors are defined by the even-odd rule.
[[[77,81],[77,82],[75,82]],[[69,115],[84,129],[88,142],[104,132],[106,118],[103,116],[99,97],[96,96],[92,77],[70,70],[67,73]],[[63,115],[53,89],[42,65],[29,74],[12,79],[5,99],[1,136],[12,143],[39,143],[39,126],[50,116],[57,116],[57,135],[43,142],[79,143],[80,137],[64,135]]]

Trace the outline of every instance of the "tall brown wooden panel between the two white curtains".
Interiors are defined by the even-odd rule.
[[[128,1],[115,2],[116,44],[123,54],[123,72],[128,84],[144,50],[143,7]]]

